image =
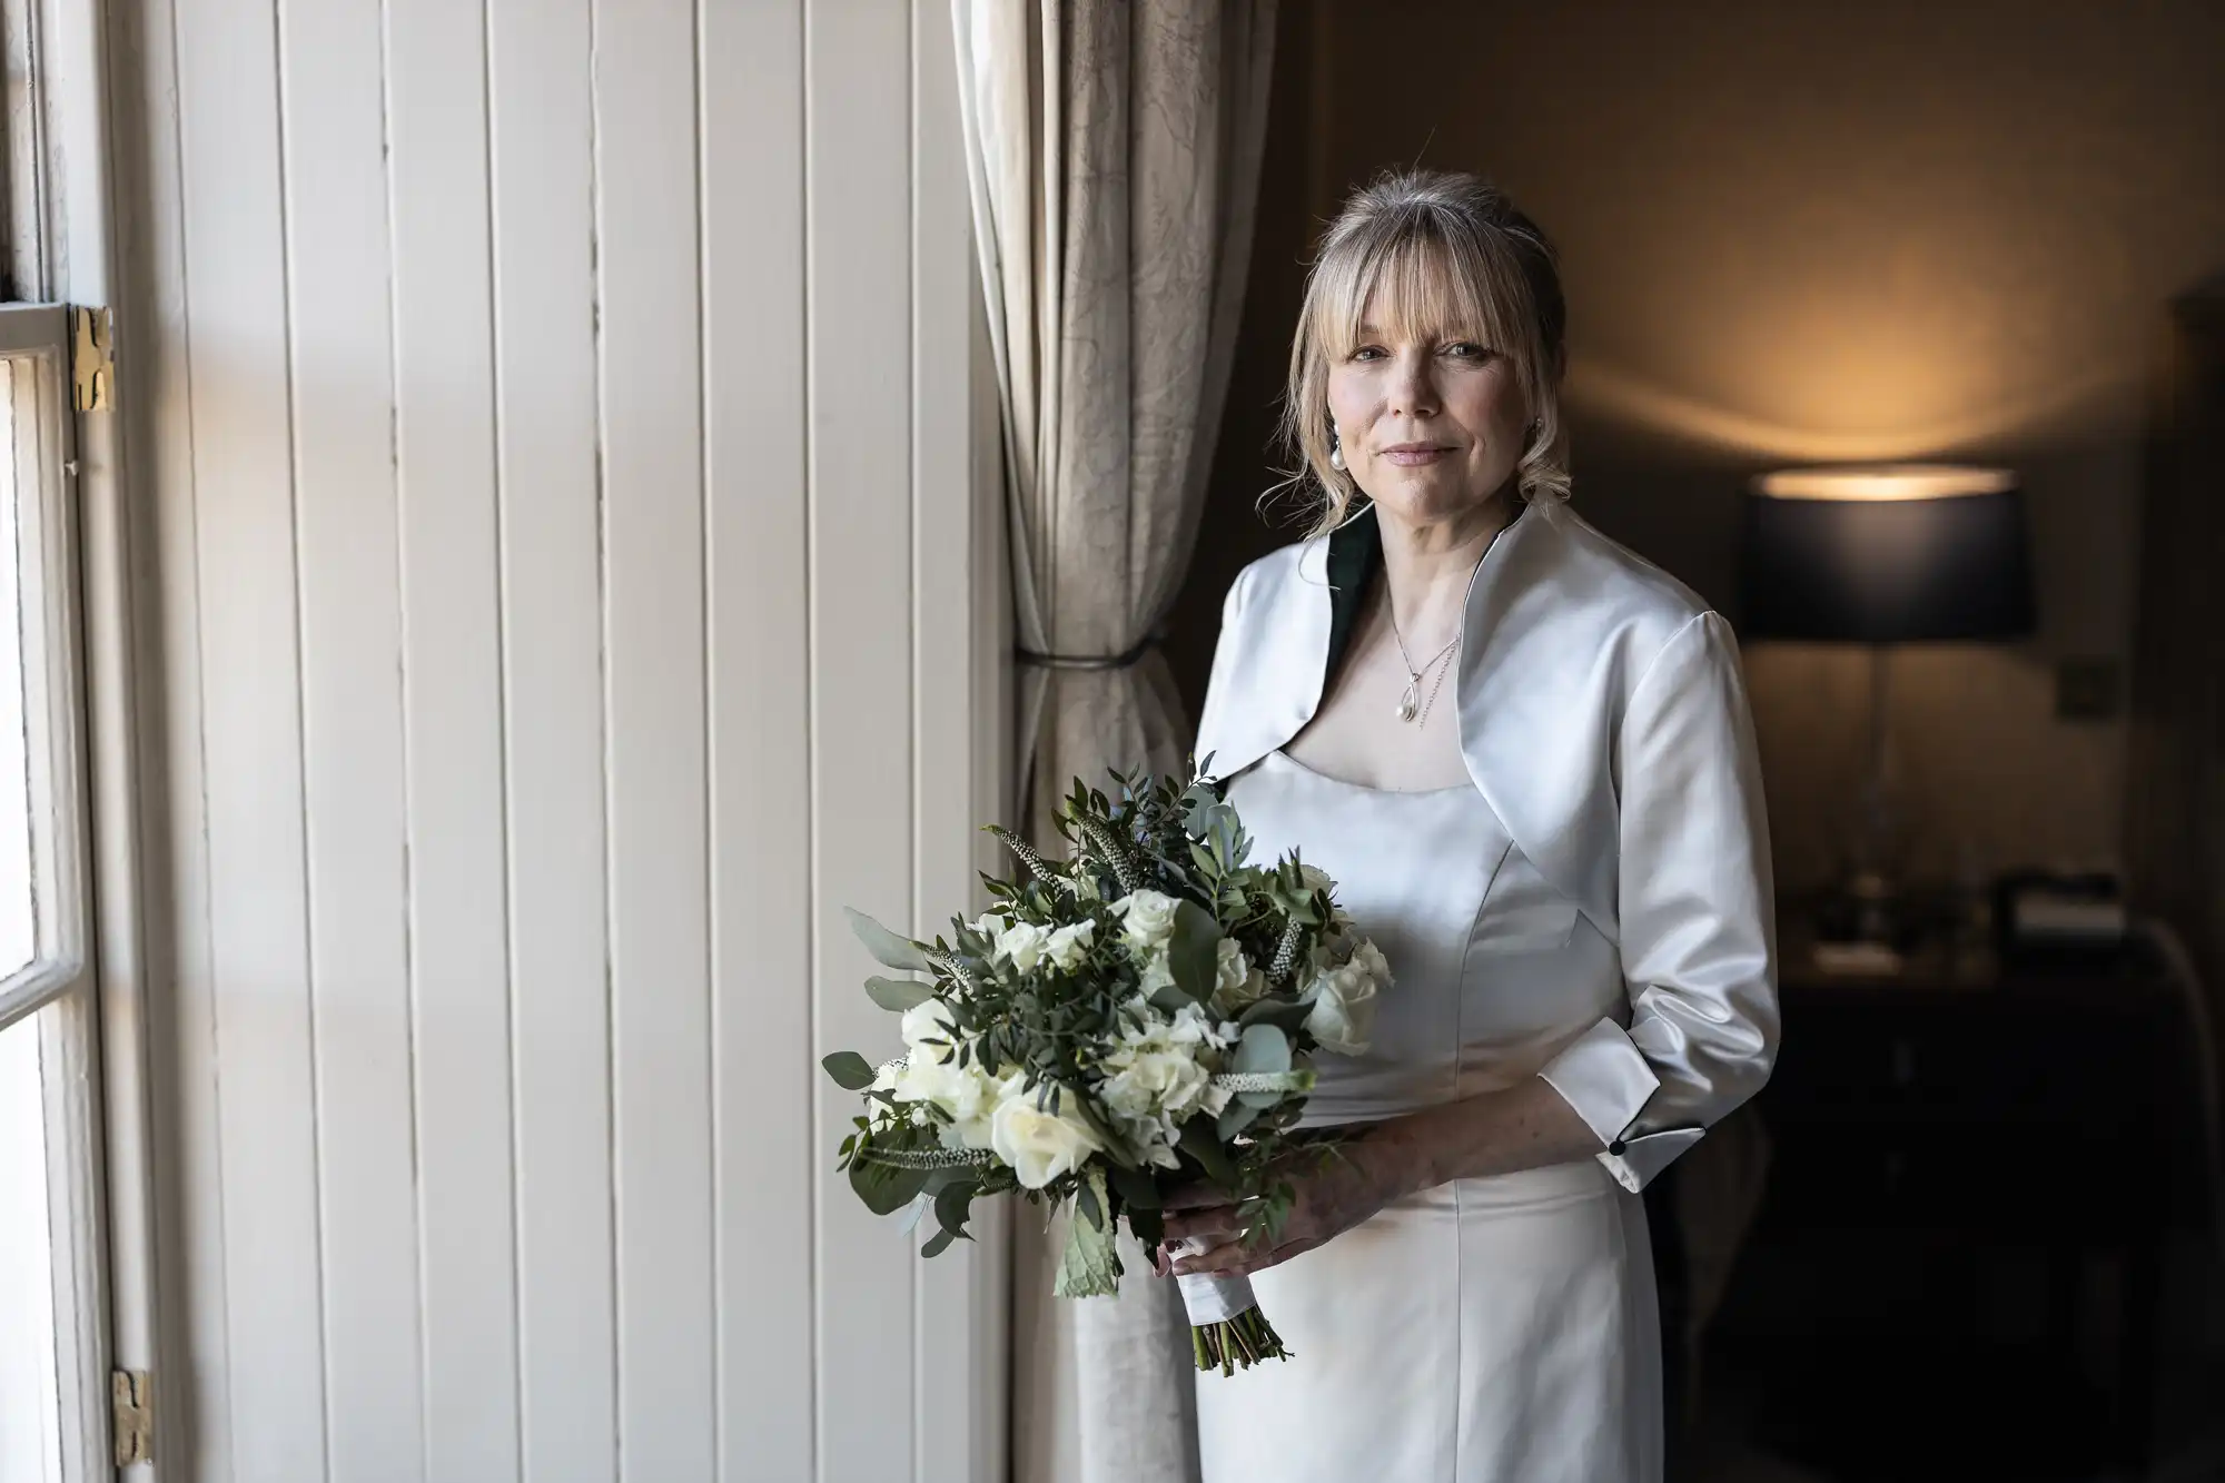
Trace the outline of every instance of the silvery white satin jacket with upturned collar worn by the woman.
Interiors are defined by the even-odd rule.
[[[1380,563],[1366,510],[1237,574],[1199,719],[1208,775],[1242,773],[1313,719]],[[1622,966],[1622,1002],[1537,1073],[1640,1189],[1776,1058],[1769,831],[1738,646],[1673,577],[1537,503],[1475,568],[1455,664],[1468,777]]]

